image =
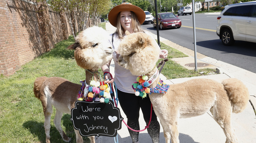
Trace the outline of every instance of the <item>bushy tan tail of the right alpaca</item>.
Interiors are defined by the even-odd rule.
[[[229,78],[222,82],[224,89],[229,95],[229,99],[233,104],[233,112],[239,113],[244,111],[249,101],[248,88],[242,83],[242,81],[236,78]]]

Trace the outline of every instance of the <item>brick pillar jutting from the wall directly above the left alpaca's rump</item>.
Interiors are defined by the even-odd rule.
[[[37,8],[38,8],[38,17],[39,17],[38,20],[39,20],[39,27],[41,30],[41,37],[43,39],[45,51],[48,52],[54,47],[52,25],[49,22],[50,17],[48,12],[48,6],[43,5],[42,3],[38,3]]]

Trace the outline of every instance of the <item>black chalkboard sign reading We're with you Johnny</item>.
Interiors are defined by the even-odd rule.
[[[123,118],[112,100],[109,103],[76,101],[70,120],[82,136],[114,137],[121,129]]]

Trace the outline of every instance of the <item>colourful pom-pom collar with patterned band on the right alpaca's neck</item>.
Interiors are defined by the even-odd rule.
[[[136,79],[137,82],[132,84],[132,88],[135,91],[135,95],[145,98],[147,96],[147,93],[150,93],[150,94],[151,93],[163,93],[163,94],[165,94],[170,86],[165,84],[161,79],[158,82],[156,87],[148,88],[156,80],[158,75],[159,75],[159,72],[157,70],[154,73],[154,75],[151,76],[151,78],[149,80],[148,80],[148,76],[146,76],[146,75],[140,75],[139,77],[137,77],[137,79]]]

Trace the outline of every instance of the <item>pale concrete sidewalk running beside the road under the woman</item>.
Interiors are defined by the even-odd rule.
[[[116,28],[113,27],[110,23],[106,23],[106,30],[111,34],[114,33]],[[152,34],[152,36],[157,39],[157,36]],[[185,64],[194,63],[194,51],[184,48],[180,45],[177,45],[169,40],[160,37],[160,41],[173,47],[184,54],[187,54],[189,57],[184,58],[174,58],[169,60],[174,60],[175,62],[181,64],[186,68]],[[200,53],[197,53],[197,62],[206,63],[208,66],[202,68],[217,68],[220,70],[220,74],[207,75],[207,76],[197,76],[191,78],[179,78],[179,79],[166,79],[164,75],[160,75],[161,79],[168,84],[181,83],[193,78],[208,78],[214,79],[221,82],[222,80],[230,77],[235,77],[240,79],[246,87],[249,89],[250,100],[256,106],[256,73],[246,71],[244,69],[238,68],[236,66],[224,63],[222,61],[204,56]],[[200,67],[198,67],[200,68]],[[193,69],[193,68],[192,68]],[[114,63],[111,64],[111,73],[114,74]],[[113,75],[114,76],[114,75]],[[125,121],[127,121],[125,114],[118,105],[121,115]],[[144,129],[146,124],[143,120],[142,113],[140,113],[140,129]],[[235,133],[239,139],[240,143],[255,143],[256,140],[256,117],[253,111],[253,108],[248,101],[246,109],[239,114],[232,114],[232,125],[235,128]],[[225,135],[218,123],[212,118],[211,114],[206,113],[202,116],[179,119],[179,139],[181,143],[224,143]],[[128,133],[128,129],[125,124],[122,122],[122,129],[117,131],[118,133],[118,142],[120,143],[132,143],[131,137]],[[96,137],[96,143],[111,143],[115,142],[113,137],[99,136]],[[147,134],[147,131],[139,133],[139,142],[140,143],[149,143],[152,142],[150,136]],[[163,130],[160,126],[160,143],[164,143],[165,139],[163,136]]]

